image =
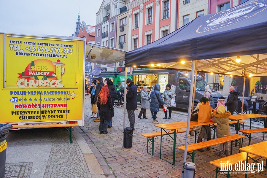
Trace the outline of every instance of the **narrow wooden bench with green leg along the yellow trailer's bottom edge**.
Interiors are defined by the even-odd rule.
[[[69,142],[72,143],[72,127],[78,127],[78,124],[24,124],[12,125],[13,129],[17,128],[52,128],[52,127],[65,127],[69,131]],[[67,128],[69,127],[69,129]]]

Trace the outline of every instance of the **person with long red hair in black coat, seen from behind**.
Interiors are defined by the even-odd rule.
[[[103,86],[101,88],[101,91],[97,96],[96,105],[98,107],[100,117],[99,134],[107,134],[109,120],[114,117],[114,108],[109,94],[109,88],[107,86]]]

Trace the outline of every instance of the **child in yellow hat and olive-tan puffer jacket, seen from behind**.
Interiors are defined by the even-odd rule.
[[[216,132],[217,138],[231,135],[229,126],[230,115],[231,113],[229,111],[225,111],[225,107],[223,105],[220,105],[217,108],[217,111],[214,112],[212,121],[214,123],[217,123],[217,132]],[[223,144],[225,149],[224,152],[223,152]],[[228,142],[220,144],[219,150],[215,152],[215,155],[222,156],[223,153],[227,156],[230,155],[228,151]]]

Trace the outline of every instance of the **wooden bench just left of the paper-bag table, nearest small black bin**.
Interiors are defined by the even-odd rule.
[[[193,130],[190,128],[189,131],[191,132]],[[184,132],[186,132],[186,128],[185,129],[178,129],[176,134],[184,133]],[[169,134],[174,134],[174,131],[173,130],[172,131],[165,131],[165,133],[163,131],[162,136],[169,135]],[[161,136],[161,132],[144,133],[141,135],[147,138],[147,153],[150,155],[154,155],[154,142],[155,142],[155,139],[157,138],[157,136]],[[156,137],[156,138],[154,139],[154,137]],[[151,153],[148,152],[148,143],[149,142],[152,144]]]

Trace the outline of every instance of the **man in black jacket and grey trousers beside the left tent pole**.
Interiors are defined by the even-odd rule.
[[[126,84],[128,85],[128,90],[126,94],[126,109],[128,114],[128,119],[130,122],[130,127],[134,129],[134,122],[135,122],[135,116],[134,111],[137,108],[137,87],[134,85],[134,81],[131,79],[126,80]]]

